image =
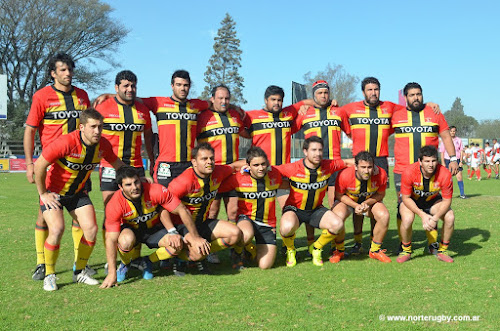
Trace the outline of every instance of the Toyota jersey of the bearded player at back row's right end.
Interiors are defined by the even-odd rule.
[[[420,148],[432,145],[438,148],[439,134],[448,130],[443,114],[435,114],[431,107],[419,112],[399,109],[392,115],[392,127],[395,133],[394,172],[403,173],[410,164],[418,161]]]

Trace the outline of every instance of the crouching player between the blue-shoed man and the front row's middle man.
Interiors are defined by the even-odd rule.
[[[234,172],[234,167],[215,165],[214,149],[208,143],[201,143],[193,148],[191,155],[192,167],[170,183],[169,191],[191,212],[196,230],[203,240],[210,242],[210,252],[214,253],[232,246],[236,253],[241,254],[243,236],[240,229],[227,221],[208,218],[210,205],[222,181]],[[176,215],[172,216],[172,220],[174,224],[181,224]],[[192,235],[185,227],[179,228],[179,233],[184,237]],[[189,257],[193,261],[201,260],[209,253],[193,247],[188,247],[188,250]],[[203,263],[201,267],[200,271],[210,272]]]

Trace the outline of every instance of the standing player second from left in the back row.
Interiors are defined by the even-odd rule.
[[[150,166],[153,165],[154,161],[149,109],[141,102],[136,101],[137,76],[132,71],[124,70],[116,75],[115,90],[116,96],[114,98],[107,99],[96,106],[97,111],[104,116],[102,136],[111,143],[113,152],[126,165],[136,168],[138,174],[144,177],[141,155],[142,134],[144,134]],[[99,178],[102,200],[106,210],[109,199],[118,190],[115,169],[106,160],[101,161]],[[106,242],[105,231],[103,223],[104,242]]]

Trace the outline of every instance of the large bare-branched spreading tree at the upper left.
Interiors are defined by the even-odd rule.
[[[117,66],[113,52],[128,34],[112,19],[112,9],[99,0],[2,0],[0,2],[0,73],[7,75],[12,102],[31,101],[50,82],[49,58],[65,52],[78,65],[75,80],[87,89],[105,86],[106,70],[96,61]]]

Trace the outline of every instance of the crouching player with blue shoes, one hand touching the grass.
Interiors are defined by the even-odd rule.
[[[124,166],[116,172],[116,191],[106,205],[106,258],[108,276],[101,288],[112,287],[125,280],[130,268],[132,250],[141,243],[157,248],[143,258],[143,278],[152,279],[152,263],[177,255],[183,247],[168,212],[194,228],[186,207],[160,184],[142,183],[137,170]],[[121,264],[116,269],[116,251]]]

